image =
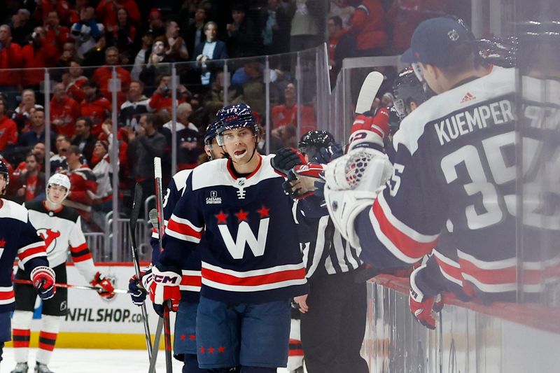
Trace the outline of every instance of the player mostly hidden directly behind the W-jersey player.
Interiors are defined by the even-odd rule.
[[[209,160],[219,160],[224,157],[221,147],[218,146],[216,141],[216,125],[213,123],[207,127],[206,134],[204,135],[204,150],[207,153]],[[163,200],[163,218],[164,224],[172,216],[181,195],[185,192],[186,181],[190,172],[193,170],[186,169],[177,172],[172,181],[167,186],[165,198]],[[160,241],[159,231],[154,227],[152,232],[152,262],[158,262],[160,256]],[[205,369],[200,369],[197,362],[197,347],[196,347],[196,315],[198,302],[200,299],[200,250],[202,244],[193,251],[191,255],[183,258],[181,263],[181,302],[175,318],[175,339],[174,339],[174,356],[176,359],[183,361],[183,372],[189,373],[204,373],[209,372]],[[151,268],[146,269],[142,276],[142,283],[145,289],[149,289],[153,275]],[[146,300],[146,293],[138,287],[139,281],[136,275],[132,276],[129,282],[129,289],[131,290],[132,302],[141,305]]]

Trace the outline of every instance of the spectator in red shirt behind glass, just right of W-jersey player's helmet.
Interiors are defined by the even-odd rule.
[[[297,103],[295,85],[288,83],[284,89],[284,104],[272,108],[272,125],[274,128],[283,125],[297,127]],[[301,133],[300,136],[316,129],[315,111],[311,106],[301,106]]]

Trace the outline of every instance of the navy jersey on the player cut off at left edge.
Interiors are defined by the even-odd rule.
[[[45,242],[29,222],[27,209],[0,198],[0,313],[15,309],[12,273],[16,255],[31,272],[37,266],[47,266]]]

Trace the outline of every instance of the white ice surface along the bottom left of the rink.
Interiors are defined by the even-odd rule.
[[[29,349],[29,373],[35,366],[37,349]],[[13,349],[4,349],[0,373],[9,373],[15,367]],[[50,370],[55,373],[144,373],[148,372],[148,353],[141,350],[55,349]],[[156,372],[165,373],[165,352],[158,353]],[[173,360],[173,372],[181,373],[183,363]],[[288,370],[279,369],[280,373]]]

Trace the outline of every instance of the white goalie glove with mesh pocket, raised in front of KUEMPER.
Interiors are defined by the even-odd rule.
[[[391,177],[393,165],[386,154],[368,147],[350,150],[325,167],[325,202],[332,222],[353,247],[360,247],[354,220],[372,206]]]

